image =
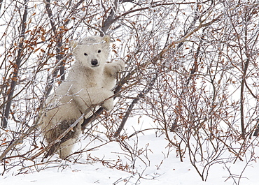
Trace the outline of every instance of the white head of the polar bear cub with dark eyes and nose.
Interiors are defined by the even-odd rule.
[[[79,42],[71,41],[76,62],[87,68],[100,68],[106,63],[110,52],[110,36],[90,36]]]

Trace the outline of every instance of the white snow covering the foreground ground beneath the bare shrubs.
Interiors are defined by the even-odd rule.
[[[84,145],[84,142],[86,141],[79,143],[78,147]],[[132,158],[127,156],[127,151],[123,151],[118,142],[114,141],[98,149],[85,152],[76,163],[61,161],[57,159],[57,156],[53,156],[52,159],[57,159],[57,161],[47,166],[38,165],[36,168],[28,168],[27,174],[12,175],[12,172],[8,172],[0,177],[0,184],[238,184],[239,179],[235,178],[236,183],[232,178],[228,179],[230,177],[228,169],[232,172],[232,176],[236,177],[241,174],[246,165],[245,161],[237,161],[235,164],[226,163],[226,165],[216,163],[209,170],[207,182],[203,182],[187,156],[181,162],[174,149],[168,153],[167,140],[163,135],[160,137],[155,137],[151,133],[139,135],[128,143],[132,144],[130,147],[144,151],[140,155],[141,159],[133,158],[134,162],[132,162]],[[101,141],[95,140],[87,148],[101,144]],[[169,155],[167,156],[167,154]],[[94,161],[89,156],[102,159],[104,162]],[[116,164],[116,161],[117,166],[120,163],[123,163],[124,166],[125,163],[128,165],[134,163],[135,168],[128,169],[135,173],[109,168],[105,161],[107,163],[110,161],[110,166]],[[39,170],[41,168],[45,169]],[[249,163],[240,179],[240,184],[258,184],[258,171],[258,163]]]

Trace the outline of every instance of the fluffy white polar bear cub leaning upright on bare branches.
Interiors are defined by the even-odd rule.
[[[66,80],[47,99],[41,117],[41,131],[48,144],[57,140],[90,106],[101,105],[106,110],[113,108],[111,89],[116,85],[117,73],[125,69],[125,64],[120,60],[106,63],[110,52],[109,42],[109,36],[90,36],[80,42],[71,42],[75,63]],[[86,117],[90,114],[88,112]],[[83,120],[50,147],[45,157],[57,153],[60,158],[66,158],[71,154],[82,123]]]

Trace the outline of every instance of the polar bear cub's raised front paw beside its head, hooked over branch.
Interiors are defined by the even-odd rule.
[[[112,63],[105,64],[104,71],[106,75],[116,78],[116,74],[125,70],[125,63],[122,60],[113,61]]]

